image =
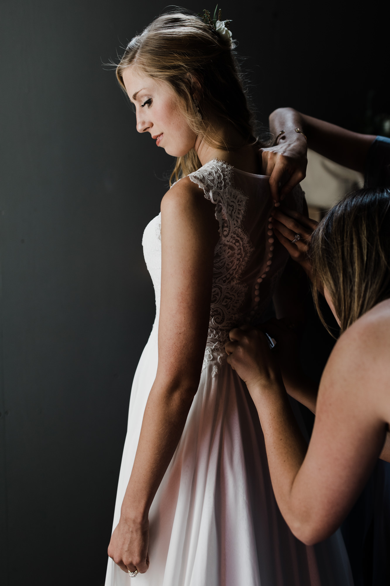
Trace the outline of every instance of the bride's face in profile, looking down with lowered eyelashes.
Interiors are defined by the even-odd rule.
[[[150,132],[157,146],[172,156],[186,155],[194,148],[196,134],[179,107],[175,91],[166,81],[153,79],[133,67],[127,67],[122,77],[135,104],[138,132]]]

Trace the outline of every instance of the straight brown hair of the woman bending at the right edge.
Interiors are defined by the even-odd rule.
[[[329,291],[341,332],[390,298],[390,190],[361,189],[345,196],[312,235],[314,304]]]

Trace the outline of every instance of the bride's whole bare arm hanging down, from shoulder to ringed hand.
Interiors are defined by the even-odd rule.
[[[215,207],[182,179],[161,205],[162,278],[159,361],[143,415],[134,466],[111,537],[122,570],[148,569],[148,513],[196,394],[210,316]]]

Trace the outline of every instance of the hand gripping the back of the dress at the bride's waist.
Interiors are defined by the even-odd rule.
[[[283,387],[276,357],[269,349],[264,333],[258,329],[235,328],[229,337],[230,342],[225,345],[227,362],[247,384],[252,398],[252,393],[259,389]]]

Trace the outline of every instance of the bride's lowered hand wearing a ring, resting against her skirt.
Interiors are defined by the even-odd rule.
[[[124,572],[144,574],[149,567],[149,522],[134,522],[121,515],[112,533],[108,556]]]

